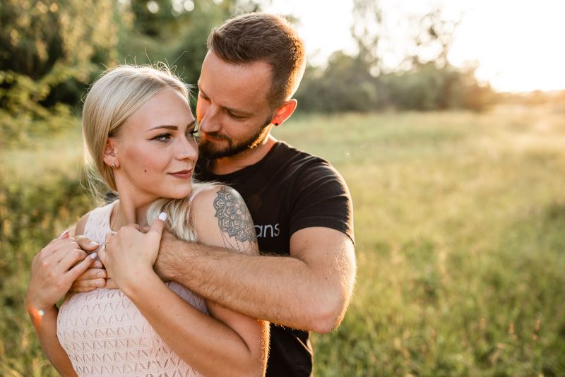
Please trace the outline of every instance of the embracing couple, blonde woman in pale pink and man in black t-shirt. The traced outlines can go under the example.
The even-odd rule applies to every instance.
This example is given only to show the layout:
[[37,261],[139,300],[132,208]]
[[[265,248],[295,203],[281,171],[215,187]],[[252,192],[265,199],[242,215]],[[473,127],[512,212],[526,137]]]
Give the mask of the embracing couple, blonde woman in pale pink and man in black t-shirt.
[[95,81],[85,157],[119,199],[37,253],[26,295],[62,375],[311,375],[356,265],[345,181],[270,135],[304,65],[283,18],[251,13],[210,33],[196,119],[166,68]]

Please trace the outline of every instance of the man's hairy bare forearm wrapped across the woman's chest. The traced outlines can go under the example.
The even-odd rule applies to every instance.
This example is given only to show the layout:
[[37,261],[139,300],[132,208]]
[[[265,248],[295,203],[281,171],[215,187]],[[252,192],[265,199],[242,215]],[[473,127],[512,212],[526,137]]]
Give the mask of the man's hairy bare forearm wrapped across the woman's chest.
[[159,256],[161,275],[234,311],[319,333],[340,323],[335,317],[341,314],[326,308],[343,306],[348,293],[335,277],[321,276],[304,261],[249,256],[179,240],[165,247],[170,250]]

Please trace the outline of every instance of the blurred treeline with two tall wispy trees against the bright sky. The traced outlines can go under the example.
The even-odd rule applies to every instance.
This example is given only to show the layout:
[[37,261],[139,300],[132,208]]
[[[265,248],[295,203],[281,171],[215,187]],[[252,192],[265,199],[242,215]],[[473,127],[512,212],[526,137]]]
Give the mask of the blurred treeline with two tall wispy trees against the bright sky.
[[404,61],[386,67],[379,52],[384,30],[382,11],[375,0],[355,0],[352,36],[356,56],[336,52],[325,69],[308,67],[297,98],[301,108],[319,112],[369,112],[383,109],[482,111],[494,100],[489,85],[475,78],[477,66],[456,68],[447,55],[458,19],[438,9],[411,20]]

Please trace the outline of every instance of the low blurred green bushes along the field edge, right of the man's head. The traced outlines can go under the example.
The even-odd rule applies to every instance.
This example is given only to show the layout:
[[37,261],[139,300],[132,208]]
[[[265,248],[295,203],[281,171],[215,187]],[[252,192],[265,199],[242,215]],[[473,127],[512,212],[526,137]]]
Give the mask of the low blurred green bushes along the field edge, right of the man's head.
[[297,91],[300,109],[314,112],[371,112],[379,109],[482,111],[495,95],[480,85],[475,68],[420,64],[410,71],[371,76],[359,56],[337,52],[325,69],[307,68]]

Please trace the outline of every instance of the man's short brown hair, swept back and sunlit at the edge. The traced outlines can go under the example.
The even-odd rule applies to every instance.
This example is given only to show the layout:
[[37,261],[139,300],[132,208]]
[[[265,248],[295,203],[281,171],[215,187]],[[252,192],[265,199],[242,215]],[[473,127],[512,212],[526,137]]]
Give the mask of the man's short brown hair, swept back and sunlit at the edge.
[[273,14],[248,13],[227,20],[210,32],[208,51],[232,64],[270,64],[267,100],[273,109],[296,92],[304,74],[304,42],[285,18]]

